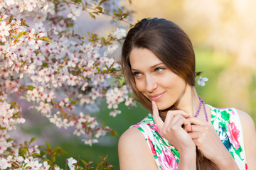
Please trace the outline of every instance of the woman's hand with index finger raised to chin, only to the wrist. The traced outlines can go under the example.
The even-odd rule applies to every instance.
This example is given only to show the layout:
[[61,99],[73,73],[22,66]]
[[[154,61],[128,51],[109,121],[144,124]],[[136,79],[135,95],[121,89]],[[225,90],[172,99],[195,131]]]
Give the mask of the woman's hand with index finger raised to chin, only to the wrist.
[[165,121],[161,120],[156,103],[152,101],[153,119],[161,135],[174,145],[178,152],[196,151],[193,140],[188,135],[191,132],[191,123],[186,119],[188,113],[184,111],[168,111]]

